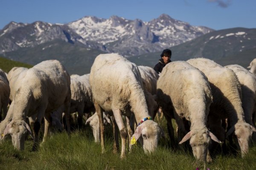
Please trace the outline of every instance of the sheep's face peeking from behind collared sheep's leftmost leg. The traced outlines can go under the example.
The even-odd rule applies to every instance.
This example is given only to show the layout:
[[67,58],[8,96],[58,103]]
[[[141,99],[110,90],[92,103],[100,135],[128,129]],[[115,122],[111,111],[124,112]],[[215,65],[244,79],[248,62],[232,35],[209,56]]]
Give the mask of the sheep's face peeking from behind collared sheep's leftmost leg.
[[[104,125],[112,124],[111,120],[108,118],[108,116],[103,112],[103,121]],[[90,125],[93,130],[93,137],[95,142],[99,142],[99,117],[97,113],[94,113],[92,116],[90,116],[86,122],[85,125]]]

